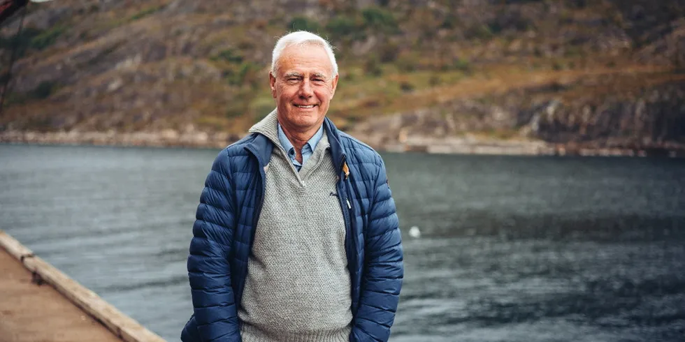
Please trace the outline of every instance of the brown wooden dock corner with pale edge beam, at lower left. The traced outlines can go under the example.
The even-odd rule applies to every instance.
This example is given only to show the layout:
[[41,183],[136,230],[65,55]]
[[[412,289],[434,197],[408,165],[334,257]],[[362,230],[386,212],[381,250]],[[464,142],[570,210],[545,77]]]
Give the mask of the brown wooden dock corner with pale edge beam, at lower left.
[[0,342],[164,342],[0,230]]

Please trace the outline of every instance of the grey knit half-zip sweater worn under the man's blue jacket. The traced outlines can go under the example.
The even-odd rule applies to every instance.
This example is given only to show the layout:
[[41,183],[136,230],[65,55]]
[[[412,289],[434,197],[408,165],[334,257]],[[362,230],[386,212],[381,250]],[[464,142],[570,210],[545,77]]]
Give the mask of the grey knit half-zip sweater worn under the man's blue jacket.
[[345,221],[328,137],[297,172],[280,146],[275,112],[250,131],[275,146],[238,310],[243,341],[348,341]]

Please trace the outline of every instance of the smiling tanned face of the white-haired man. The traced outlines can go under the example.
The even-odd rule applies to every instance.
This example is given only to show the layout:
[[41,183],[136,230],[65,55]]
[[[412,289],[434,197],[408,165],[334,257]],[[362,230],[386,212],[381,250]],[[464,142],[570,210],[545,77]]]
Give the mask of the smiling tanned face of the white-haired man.
[[318,45],[286,47],[269,73],[282,125],[298,130],[318,128],[329,110],[338,75],[326,51]]

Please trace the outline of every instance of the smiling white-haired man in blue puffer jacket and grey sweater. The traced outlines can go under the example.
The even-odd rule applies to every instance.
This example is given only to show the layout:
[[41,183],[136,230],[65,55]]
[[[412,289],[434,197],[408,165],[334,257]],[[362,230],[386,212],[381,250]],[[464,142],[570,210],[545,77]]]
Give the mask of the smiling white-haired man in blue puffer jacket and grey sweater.
[[276,109],[219,153],[190,243],[182,341],[387,341],[403,278],[381,157],[326,112],[331,46],[305,31],[273,50]]

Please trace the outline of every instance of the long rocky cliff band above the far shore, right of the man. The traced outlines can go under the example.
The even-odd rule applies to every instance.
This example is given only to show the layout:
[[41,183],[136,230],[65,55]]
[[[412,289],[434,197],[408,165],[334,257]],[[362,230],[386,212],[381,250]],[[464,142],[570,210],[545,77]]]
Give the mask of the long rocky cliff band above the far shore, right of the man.
[[586,79],[452,101],[370,119],[354,131],[380,144],[402,142],[403,136],[482,133],[590,149],[685,149],[685,80],[627,89],[621,82],[630,79]]

